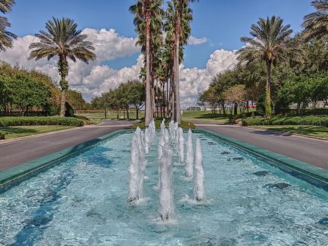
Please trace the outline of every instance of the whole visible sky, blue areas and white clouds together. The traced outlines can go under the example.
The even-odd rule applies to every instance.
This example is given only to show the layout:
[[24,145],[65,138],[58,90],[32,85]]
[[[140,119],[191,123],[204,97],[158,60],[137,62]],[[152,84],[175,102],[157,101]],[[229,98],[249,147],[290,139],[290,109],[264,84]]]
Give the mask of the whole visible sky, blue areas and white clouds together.
[[[10,31],[20,38],[12,50],[0,53],[0,59],[13,65],[37,68],[56,79],[55,61],[27,61],[27,46],[33,35],[44,29],[52,16],[73,18],[78,28],[96,44],[98,59],[85,66],[72,64],[72,88],[90,100],[119,83],[137,76],[142,59],[135,46],[133,15],[128,12],[133,0],[16,0],[7,14]],[[181,66],[182,104],[193,105],[198,92],[206,90],[210,77],[236,64],[233,51],[243,46],[251,24],[259,17],[281,16],[285,24],[301,31],[303,16],[314,9],[311,0],[200,0],[191,3],[194,20],[191,38]],[[115,79],[116,78],[116,79]],[[184,84],[185,83],[185,84]]]

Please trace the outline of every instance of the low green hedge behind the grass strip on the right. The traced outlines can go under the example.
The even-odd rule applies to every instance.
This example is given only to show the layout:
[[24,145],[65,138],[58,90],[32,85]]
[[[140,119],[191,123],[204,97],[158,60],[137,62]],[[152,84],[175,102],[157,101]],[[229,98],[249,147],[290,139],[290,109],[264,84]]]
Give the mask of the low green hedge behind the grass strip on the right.
[[328,126],[328,116],[297,116],[297,117],[274,117],[265,118],[245,118],[244,126],[260,125],[311,125],[311,126]]

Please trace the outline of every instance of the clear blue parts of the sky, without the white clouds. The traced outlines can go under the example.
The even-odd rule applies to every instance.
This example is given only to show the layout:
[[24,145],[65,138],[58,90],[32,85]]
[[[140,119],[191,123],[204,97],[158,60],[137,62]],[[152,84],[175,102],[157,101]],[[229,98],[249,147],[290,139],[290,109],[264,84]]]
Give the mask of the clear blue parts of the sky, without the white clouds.
[[[200,0],[192,3],[194,20],[192,35],[208,38],[205,44],[187,46],[184,65],[204,68],[217,49],[234,50],[241,47],[241,36],[248,36],[252,23],[260,16],[273,14],[284,18],[295,31],[301,30],[302,18],[313,11],[311,0]],[[115,29],[121,36],[135,37],[133,16],[128,7],[133,0],[16,0],[8,18],[11,31],[18,36],[34,34],[44,29],[51,16],[70,17],[80,29]],[[108,61],[118,69],[135,64],[137,54]]]

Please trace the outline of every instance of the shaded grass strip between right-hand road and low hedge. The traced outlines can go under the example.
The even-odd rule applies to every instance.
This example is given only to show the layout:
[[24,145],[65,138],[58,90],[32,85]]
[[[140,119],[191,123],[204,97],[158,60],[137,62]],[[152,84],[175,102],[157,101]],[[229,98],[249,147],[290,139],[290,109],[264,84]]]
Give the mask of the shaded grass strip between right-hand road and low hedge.
[[252,126],[254,128],[269,129],[274,131],[283,131],[287,133],[297,133],[314,137],[328,138],[327,126]]

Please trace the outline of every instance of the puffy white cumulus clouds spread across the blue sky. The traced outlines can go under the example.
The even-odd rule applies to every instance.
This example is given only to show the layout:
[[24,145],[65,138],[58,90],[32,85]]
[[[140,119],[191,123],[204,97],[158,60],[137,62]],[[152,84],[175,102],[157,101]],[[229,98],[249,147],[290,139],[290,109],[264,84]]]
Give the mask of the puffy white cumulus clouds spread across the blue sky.
[[[88,39],[94,43],[97,55],[96,61],[84,64],[81,61],[69,62],[70,72],[68,81],[70,88],[79,90],[85,98],[90,99],[100,96],[111,88],[125,83],[128,79],[139,77],[139,70],[143,66],[143,55],[139,55],[136,64],[121,69],[113,69],[102,65],[103,61],[117,59],[118,57],[131,56],[140,51],[135,46],[135,38],[120,36],[115,29],[83,29]],[[205,42],[203,38],[191,41],[193,44]],[[207,42],[207,39],[204,38]],[[55,81],[59,81],[56,59],[40,59],[39,61],[28,60],[29,44],[38,40],[34,36],[24,36],[14,40],[13,49],[0,53],[0,59],[14,65],[25,68],[36,68],[48,73]],[[180,66],[180,94],[182,108],[195,105],[197,95],[207,89],[211,77],[224,70],[230,70],[236,66],[236,55],[234,51],[223,49],[215,51],[210,55],[206,68],[184,68]]]

